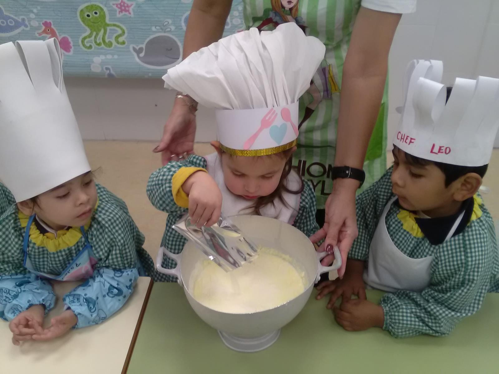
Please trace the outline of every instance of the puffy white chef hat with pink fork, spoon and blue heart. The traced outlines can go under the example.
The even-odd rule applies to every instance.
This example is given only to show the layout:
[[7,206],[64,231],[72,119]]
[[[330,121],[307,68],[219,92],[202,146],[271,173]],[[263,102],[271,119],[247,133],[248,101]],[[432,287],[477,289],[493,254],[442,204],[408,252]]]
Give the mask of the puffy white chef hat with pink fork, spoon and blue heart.
[[295,23],[230,35],[189,55],[163,77],[165,87],[216,108],[218,140],[233,155],[285,151],[298,137],[298,99],[325,47]]

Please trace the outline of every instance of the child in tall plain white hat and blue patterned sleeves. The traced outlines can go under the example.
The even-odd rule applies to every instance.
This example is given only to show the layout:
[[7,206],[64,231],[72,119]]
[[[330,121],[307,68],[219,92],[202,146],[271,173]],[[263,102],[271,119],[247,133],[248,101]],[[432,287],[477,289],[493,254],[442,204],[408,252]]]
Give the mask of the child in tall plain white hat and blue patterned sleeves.
[[[56,39],[0,45],[0,180],[0,318],[14,344],[101,323],[141,263],[154,271],[125,203],[93,181]],[[86,282],[43,329],[50,279]]]

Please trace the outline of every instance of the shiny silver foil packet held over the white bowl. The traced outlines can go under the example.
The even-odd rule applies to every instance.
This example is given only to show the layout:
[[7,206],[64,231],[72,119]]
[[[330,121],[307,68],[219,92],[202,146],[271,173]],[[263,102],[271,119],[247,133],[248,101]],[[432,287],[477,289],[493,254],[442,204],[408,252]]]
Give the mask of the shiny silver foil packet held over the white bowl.
[[231,271],[251,261],[257,251],[257,246],[245,238],[242,231],[228,218],[220,216],[218,223],[212,227],[198,228],[186,214],[173,228],[192,240],[225,271]]

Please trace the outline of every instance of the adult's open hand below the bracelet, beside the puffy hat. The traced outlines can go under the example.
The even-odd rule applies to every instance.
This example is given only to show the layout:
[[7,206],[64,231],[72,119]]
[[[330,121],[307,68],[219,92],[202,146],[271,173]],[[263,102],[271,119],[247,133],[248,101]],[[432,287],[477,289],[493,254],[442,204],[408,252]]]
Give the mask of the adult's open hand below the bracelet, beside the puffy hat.
[[195,135],[196,115],[184,99],[175,98],[163,137],[153,152],[161,152],[161,162],[166,165],[171,160],[177,160],[179,155],[193,152]]

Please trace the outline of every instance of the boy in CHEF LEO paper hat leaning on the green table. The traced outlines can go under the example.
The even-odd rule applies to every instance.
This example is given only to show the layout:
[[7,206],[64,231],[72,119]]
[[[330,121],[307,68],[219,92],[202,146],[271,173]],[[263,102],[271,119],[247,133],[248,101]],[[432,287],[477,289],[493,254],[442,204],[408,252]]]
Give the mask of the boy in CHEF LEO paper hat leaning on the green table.
[[[498,290],[493,219],[477,194],[499,119],[499,79],[457,78],[446,104],[441,61],[414,60],[393,141],[394,166],[357,198],[359,237],[343,280],[322,286],[346,330],[449,334]],[[368,288],[387,291],[379,305]],[[360,299],[350,300],[352,294]]]

